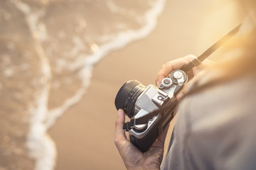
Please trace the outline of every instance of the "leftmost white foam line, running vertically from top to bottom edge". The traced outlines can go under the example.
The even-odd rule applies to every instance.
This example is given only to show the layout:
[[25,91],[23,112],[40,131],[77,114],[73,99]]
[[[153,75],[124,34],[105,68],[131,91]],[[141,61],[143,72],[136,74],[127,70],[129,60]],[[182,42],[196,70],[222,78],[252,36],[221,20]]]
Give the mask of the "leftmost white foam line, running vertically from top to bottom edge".
[[[43,51],[41,42],[39,42],[38,38],[36,38],[36,35],[34,34],[34,31],[41,32],[41,24],[38,23],[38,18],[42,11],[36,11],[36,13],[33,13],[31,8],[22,1],[12,0],[11,2],[25,15],[28,27],[33,36],[33,40],[35,41],[36,52],[38,52],[38,57],[41,61],[41,73],[44,78],[50,80],[51,72],[48,58]],[[43,124],[48,113],[49,91],[50,84],[46,82],[46,84],[43,84],[42,90],[35,95],[35,105],[28,108],[31,119],[26,147],[28,148],[29,156],[36,160],[36,170],[50,170],[55,166],[55,143],[48,136],[46,126]]]

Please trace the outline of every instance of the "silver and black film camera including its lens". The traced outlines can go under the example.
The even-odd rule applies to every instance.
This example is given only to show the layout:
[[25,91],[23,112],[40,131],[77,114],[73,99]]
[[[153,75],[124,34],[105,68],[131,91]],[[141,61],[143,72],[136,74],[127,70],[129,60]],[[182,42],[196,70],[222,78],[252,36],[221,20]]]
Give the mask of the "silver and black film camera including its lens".
[[144,86],[139,81],[127,81],[115,98],[117,110],[122,108],[131,121],[124,124],[129,137],[142,152],[146,152],[174,118],[175,95],[186,84],[188,77],[176,69],[161,81],[159,87]]

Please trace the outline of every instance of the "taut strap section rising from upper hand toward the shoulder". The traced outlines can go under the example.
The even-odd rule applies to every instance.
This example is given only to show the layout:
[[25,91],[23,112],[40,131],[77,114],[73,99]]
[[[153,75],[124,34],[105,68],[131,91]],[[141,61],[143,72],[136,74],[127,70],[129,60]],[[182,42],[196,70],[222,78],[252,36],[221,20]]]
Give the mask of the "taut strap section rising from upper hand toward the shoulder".
[[200,65],[201,62],[203,62],[203,60],[206,60],[206,58],[209,57],[211,54],[213,54],[213,52],[215,52],[215,50],[217,50],[221,45],[223,45],[225,42],[230,40],[230,38],[232,38],[233,35],[238,33],[238,30],[240,29],[241,25],[242,24],[235,27],[227,35],[225,35],[223,38],[221,38],[220,40],[215,42],[215,44],[210,46],[205,52],[203,52],[202,55],[200,55],[199,57],[196,57],[196,59],[192,60],[188,64],[183,65],[183,67],[181,67],[181,70],[183,70],[184,72],[187,72],[189,69],[192,69],[193,67],[196,67],[196,66]]

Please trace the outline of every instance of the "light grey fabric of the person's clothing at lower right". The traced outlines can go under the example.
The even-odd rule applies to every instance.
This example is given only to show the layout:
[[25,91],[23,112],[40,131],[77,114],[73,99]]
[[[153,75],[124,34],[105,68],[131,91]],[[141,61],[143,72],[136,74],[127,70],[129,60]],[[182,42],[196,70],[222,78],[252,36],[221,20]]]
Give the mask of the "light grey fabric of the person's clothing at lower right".
[[256,78],[187,96],[161,169],[256,169]]

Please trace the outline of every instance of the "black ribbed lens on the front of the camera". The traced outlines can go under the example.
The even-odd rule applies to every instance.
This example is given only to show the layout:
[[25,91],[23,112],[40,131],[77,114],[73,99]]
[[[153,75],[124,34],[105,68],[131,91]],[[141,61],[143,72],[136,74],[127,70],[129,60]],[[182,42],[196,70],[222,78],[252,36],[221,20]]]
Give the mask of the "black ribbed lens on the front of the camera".
[[134,116],[135,102],[140,94],[146,89],[137,80],[127,81],[121,89],[119,89],[114,104],[117,108],[122,108],[129,118]]

